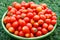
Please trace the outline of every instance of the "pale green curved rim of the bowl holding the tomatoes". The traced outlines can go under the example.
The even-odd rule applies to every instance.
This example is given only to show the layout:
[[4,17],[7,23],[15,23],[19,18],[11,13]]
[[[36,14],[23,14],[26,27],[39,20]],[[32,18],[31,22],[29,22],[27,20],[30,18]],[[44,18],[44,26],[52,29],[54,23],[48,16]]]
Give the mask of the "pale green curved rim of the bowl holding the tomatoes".
[[10,33],[6,28],[5,28],[5,25],[4,25],[4,22],[3,22],[3,19],[6,15],[7,11],[4,13],[3,17],[2,17],[2,26],[3,26],[3,29],[6,31],[7,34],[9,34],[10,36],[16,38],[16,39],[22,39],[22,40],[36,40],[36,39],[42,39],[48,35],[50,35],[51,33],[53,33],[53,31],[55,30],[56,26],[57,26],[57,23],[55,24],[54,28],[52,31],[48,32],[47,34],[45,35],[42,35],[42,36],[39,36],[39,37],[33,37],[33,38],[24,38],[24,37],[20,37],[20,36],[16,36],[12,33]]

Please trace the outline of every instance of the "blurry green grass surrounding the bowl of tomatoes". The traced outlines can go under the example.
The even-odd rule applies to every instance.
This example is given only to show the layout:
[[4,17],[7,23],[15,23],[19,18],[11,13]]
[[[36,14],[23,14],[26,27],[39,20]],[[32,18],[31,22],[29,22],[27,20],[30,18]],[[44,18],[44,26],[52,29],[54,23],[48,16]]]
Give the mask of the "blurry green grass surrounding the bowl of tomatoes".
[[[22,0],[0,0],[0,40],[14,40],[4,32],[1,25],[2,15],[7,10],[7,6],[11,5],[11,3],[14,1],[21,2]],[[50,35],[49,37],[46,37],[42,40],[60,40],[60,0],[26,0],[26,2],[28,1],[34,1],[37,4],[46,3],[50,9],[56,12],[58,15],[57,28],[54,31],[53,35]]]

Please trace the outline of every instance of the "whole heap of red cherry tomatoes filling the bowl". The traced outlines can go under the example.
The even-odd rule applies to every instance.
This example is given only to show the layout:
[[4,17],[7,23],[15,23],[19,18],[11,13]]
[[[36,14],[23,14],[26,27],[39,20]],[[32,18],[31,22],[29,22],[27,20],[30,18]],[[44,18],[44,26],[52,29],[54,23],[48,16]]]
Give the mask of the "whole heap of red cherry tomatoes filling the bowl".
[[37,37],[50,32],[56,24],[57,16],[46,4],[34,2],[13,2],[4,17],[7,30],[17,36]]

